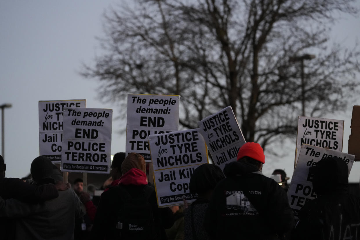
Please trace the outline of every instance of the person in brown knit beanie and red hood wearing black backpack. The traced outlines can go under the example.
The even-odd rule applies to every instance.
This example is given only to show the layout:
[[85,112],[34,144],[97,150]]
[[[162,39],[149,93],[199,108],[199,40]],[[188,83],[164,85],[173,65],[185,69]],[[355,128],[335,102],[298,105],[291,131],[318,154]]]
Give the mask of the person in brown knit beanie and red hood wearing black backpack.
[[121,165],[123,176],[105,191],[94,221],[92,239],[166,239],[174,224],[168,208],[158,208],[155,189],[147,185],[145,160],[130,153]]

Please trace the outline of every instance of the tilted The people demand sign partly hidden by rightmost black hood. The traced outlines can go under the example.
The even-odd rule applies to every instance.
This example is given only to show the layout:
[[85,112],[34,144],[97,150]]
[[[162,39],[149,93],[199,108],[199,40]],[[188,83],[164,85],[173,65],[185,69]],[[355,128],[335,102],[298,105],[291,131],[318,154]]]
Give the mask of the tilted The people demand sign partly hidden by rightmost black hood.
[[343,159],[347,163],[350,174],[352,164],[354,163],[354,155],[308,144],[303,144],[301,146],[299,158],[288,189],[289,205],[296,218],[303,205],[307,201],[316,198],[316,194],[312,188],[312,176],[309,174],[309,168],[311,166],[316,166],[316,163],[320,160],[330,157],[339,157]]

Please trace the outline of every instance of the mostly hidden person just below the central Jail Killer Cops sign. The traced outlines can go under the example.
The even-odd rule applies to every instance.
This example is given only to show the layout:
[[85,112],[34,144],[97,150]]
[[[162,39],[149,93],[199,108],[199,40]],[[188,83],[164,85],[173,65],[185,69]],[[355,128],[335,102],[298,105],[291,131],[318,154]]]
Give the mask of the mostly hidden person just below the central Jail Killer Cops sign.
[[182,206],[172,206],[170,210],[174,214],[174,225],[171,228],[165,229],[168,240],[183,240],[184,239],[184,212]]

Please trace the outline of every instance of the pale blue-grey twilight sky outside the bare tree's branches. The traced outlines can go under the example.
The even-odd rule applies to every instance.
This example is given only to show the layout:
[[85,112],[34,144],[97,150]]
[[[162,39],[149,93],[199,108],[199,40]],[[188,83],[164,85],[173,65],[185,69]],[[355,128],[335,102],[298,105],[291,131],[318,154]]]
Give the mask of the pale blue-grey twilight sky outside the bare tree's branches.
[[[39,100],[86,99],[87,107],[112,108],[113,117],[119,116],[116,104],[98,99],[99,82],[84,79],[78,71],[82,63],[91,64],[101,54],[95,37],[103,36],[104,10],[123,2],[0,1],[0,105],[13,105],[4,114],[7,177],[26,176],[32,160],[39,155]],[[360,8],[359,1],[356,5]],[[359,18],[342,16],[331,37],[351,49],[360,37]],[[322,116],[345,120],[343,152],[346,153],[352,105],[360,105],[360,101],[351,102],[345,113]],[[118,133],[123,124],[125,121],[113,119],[112,154],[125,151],[125,133]],[[275,168],[282,168],[291,177],[295,141],[296,137],[285,144],[283,150],[287,154],[281,158],[266,158],[265,152],[266,176]],[[349,181],[359,182],[359,176],[360,163],[355,162]]]

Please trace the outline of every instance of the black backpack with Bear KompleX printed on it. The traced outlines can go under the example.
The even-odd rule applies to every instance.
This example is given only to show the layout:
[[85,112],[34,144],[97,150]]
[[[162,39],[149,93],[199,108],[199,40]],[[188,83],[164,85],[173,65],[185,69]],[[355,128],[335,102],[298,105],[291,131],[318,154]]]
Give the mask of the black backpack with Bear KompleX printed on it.
[[145,185],[140,193],[131,196],[125,187],[118,186],[122,202],[116,224],[118,239],[157,239],[153,209],[149,203],[153,191],[153,187]]

